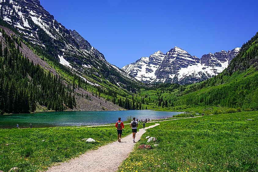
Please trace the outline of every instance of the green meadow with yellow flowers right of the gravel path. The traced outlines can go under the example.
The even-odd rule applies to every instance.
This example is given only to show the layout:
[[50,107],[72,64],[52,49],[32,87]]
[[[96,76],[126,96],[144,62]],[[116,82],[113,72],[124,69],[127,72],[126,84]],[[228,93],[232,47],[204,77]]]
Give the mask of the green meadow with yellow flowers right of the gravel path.
[[161,122],[136,144],[156,137],[152,149],[136,147],[119,171],[258,171],[257,131],[257,111]]

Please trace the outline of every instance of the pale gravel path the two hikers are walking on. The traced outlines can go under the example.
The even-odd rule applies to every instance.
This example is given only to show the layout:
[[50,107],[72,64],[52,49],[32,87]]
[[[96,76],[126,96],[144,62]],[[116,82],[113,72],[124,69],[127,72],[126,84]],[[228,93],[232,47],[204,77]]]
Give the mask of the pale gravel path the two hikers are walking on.
[[[146,132],[146,129],[158,125],[158,123],[155,123],[155,125],[146,127],[145,130],[140,129],[139,132],[136,133],[135,141],[140,140],[141,136]],[[133,151],[134,145],[132,134],[129,134],[121,139],[121,143],[115,141],[97,150],[86,152],[78,158],[71,159],[58,166],[50,167],[47,172],[114,172],[118,170],[123,160]]]

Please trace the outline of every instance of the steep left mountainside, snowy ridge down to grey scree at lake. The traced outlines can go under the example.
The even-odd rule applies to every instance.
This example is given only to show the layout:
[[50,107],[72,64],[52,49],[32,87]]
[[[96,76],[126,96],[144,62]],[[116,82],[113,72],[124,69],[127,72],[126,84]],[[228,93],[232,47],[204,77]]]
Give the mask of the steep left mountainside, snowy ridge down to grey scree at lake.
[[22,40],[24,56],[61,77],[69,89],[75,85],[74,110],[123,109],[115,105],[117,96],[124,103],[136,91],[136,79],[108,63],[77,31],[58,23],[39,0],[0,0],[0,23],[9,36]]

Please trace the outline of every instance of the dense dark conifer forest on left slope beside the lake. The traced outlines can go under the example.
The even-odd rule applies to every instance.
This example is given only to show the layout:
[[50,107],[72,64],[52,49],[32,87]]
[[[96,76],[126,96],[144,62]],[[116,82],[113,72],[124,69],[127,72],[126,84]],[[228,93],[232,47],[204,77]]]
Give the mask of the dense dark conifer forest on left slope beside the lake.
[[1,32],[5,40],[0,42],[0,111],[29,113],[37,104],[56,111],[75,107],[71,88],[29,61],[15,44],[17,39]]

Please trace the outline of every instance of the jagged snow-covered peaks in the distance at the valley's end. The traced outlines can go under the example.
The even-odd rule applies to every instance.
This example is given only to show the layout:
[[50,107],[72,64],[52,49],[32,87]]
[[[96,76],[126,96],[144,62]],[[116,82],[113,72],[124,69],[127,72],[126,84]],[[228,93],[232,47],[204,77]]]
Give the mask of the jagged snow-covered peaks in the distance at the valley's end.
[[158,51],[122,68],[144,83],[167,82],[190,84],[219,74],[227,68],[240,48],[205,54],[199,59],[184,49],[174,47],[166,54]]

